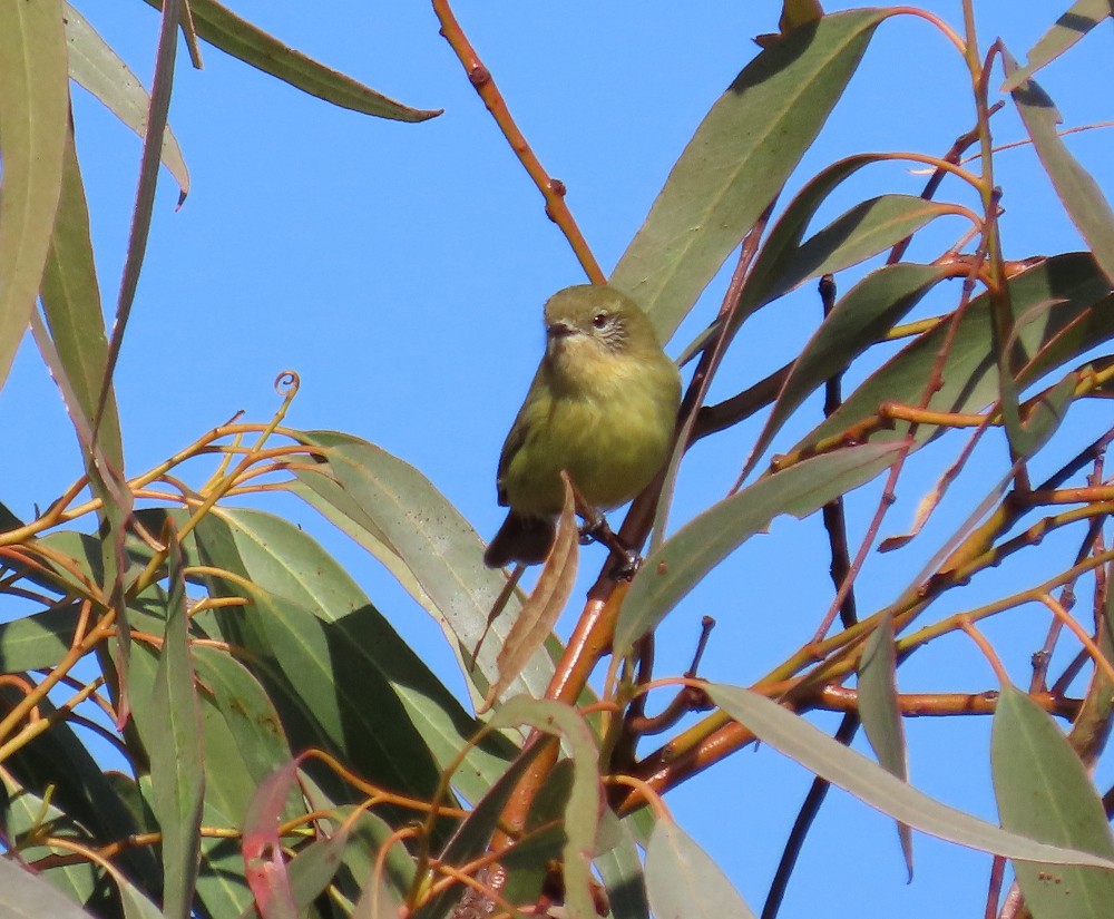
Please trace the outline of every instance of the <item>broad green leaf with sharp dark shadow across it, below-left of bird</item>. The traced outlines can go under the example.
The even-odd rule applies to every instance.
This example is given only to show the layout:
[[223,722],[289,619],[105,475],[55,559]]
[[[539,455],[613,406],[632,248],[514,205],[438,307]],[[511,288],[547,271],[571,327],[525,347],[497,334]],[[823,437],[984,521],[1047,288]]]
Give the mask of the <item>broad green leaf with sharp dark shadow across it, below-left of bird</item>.
[[[348,573],[297,527],[258,511],[215,509],[195,536],[202,564],[234,576],[206,575],[209,592],[250,602],[214,620],[256,656],[294,750],[321,745],[370,781],[432,793],[479,725]],[[506,752],[494,739],[471,751],[456,776],[461,793],[478,799]]]

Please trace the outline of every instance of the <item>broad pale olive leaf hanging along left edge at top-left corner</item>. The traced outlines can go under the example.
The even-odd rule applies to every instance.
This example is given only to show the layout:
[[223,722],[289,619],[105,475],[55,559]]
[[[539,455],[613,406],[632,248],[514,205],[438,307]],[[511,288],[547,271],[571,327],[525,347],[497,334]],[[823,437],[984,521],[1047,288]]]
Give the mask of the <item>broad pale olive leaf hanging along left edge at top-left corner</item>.
[[35,310],[62,186],[69,79],[61,0],[0,3],[0,384]]

